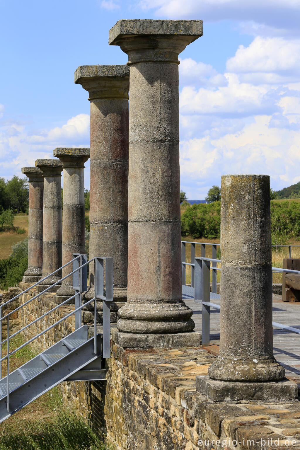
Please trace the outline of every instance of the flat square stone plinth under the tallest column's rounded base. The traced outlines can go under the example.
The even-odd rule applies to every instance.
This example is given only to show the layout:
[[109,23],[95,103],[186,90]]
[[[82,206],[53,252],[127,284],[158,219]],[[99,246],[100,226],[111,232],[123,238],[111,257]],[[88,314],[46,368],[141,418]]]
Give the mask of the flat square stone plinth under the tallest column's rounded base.
[[123,348],[200,347],[201,333],[134,334],[112,329],[112,341]]

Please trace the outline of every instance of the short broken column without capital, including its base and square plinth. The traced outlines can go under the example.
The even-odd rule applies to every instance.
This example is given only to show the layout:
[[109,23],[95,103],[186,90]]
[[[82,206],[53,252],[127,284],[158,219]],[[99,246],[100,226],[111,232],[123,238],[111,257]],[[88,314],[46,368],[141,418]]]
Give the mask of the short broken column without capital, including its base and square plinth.
[[223,175],[220,349],[197,379],[214,400],[294,398],[295,383],[272,383],[285,370],[273,356],[271,262],[269,176]]

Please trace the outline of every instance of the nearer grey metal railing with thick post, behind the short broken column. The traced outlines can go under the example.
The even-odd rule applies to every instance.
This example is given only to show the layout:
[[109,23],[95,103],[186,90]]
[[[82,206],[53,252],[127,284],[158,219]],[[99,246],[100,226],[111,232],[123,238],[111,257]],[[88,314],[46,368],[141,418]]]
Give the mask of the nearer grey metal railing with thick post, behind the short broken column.
[[[201,303],[201,333],[202,333],[202,347],[210,345],[210,308],[220,311],[220,306],[216,303],[210,302],[210,269],[221,270],[218,268],[210,267],[210,262],[220,263],[219,259],[196,257],[195,258],[195,294],[194,300],[197,303]],[[285,272],[300,275],[299,270],[279,269],[278,267],[272,267],[272,272]],[[216,288],[212,289],[213,293],[217,293]],[[279,324],[278,322],[272,322],[273,327],[279,328],[291,333],[300,334],[300,330],[290,327],[288,325]]]

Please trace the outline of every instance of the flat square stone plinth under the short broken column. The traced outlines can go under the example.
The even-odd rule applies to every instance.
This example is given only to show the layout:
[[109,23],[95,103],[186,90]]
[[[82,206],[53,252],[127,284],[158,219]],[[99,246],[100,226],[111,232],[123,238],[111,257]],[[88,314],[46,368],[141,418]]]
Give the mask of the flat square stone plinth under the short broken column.
[[274,400],[284,403],[298,401],[298,386],[287,378],[275,382],[243,383],[212,380],[207,376],[196,377],[196,389],[215,402]]

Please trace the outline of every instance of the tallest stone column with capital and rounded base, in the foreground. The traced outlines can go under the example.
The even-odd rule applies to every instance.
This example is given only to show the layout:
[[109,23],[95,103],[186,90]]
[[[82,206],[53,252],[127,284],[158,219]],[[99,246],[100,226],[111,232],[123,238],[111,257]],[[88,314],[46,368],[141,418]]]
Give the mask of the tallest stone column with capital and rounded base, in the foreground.
[[109,31],[109,44],[120,45],[130,66],[128,301],[118,311],[121,332],[194,328],[181,284],[178,54],[199,36],[199,20],[119,20]]

